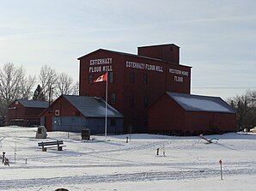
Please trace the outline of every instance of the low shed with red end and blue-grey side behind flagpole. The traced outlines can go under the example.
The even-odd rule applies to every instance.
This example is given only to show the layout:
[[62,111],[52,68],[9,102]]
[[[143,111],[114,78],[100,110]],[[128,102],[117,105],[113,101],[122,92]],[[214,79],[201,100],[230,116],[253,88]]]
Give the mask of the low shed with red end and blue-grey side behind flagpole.
[[[102,98],[76,95],[61,95],[41,113],[41,125],[47,131],[82,132],[88,128],[90,134],[121,134],[124,116]],[[107,129],[106,129],[107,128]]]

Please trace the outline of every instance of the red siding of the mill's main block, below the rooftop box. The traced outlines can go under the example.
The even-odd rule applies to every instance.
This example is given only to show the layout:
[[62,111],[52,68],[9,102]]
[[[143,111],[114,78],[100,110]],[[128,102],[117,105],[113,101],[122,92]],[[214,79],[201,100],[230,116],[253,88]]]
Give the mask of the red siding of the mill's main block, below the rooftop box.
[[[177,51],[179,48],[175,50]],[[179,51],[174,53],[176,54],[175,57],[179,57],[178,53]],[[141,54],[143,55],[143,53]],[[112,63],[97,66],[90,65],[91,60],[101,58],[112,58]],[[179,62],[179,59],[175,59],[175,62]],[[131,127],[134,133],[147,131],[149,105],[153,104],[162,93],[168,91],[174,93],[190,93],[191,67],[179,65],[178,63],[168,63],[159,59],[106,50],[94,51],[79,58],[79,60],[79,94],[81,96],[100,96],[101,98],[105,98],[106,82],[90,84],[88,82],[88,76],[93,74],[95,79],[105,73],[105,71],[102,71],[103,66],[112,67],[114,82],[108,83],[108,103],[110,103],[111,94],[116,93],[116,103],[112,104],[112,106],[124,115],[126,133],[130,131]],[[152,68],[138,69],[137,67],[132,67],[132,63],[143,63],[148,67],[150,65]],[[92,67],[100,67],[101,72],[92,72]],[[131,83],[131,74],[134,74],[134,83]],[[144,83],[144,75],[148,77],[147,84]],[[177,78],[182,81],[177,81]],[[131,97],[134,98],[133,106],[131,106]],[[147,98],[149,104],[148,106],[144,106]]]

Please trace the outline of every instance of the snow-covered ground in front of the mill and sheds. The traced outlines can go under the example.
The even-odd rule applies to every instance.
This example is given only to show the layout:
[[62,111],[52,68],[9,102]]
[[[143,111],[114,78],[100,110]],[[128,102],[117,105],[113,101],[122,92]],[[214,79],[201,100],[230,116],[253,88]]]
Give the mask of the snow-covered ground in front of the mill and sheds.
[[[0,190],[256,190],[256,134],[205,136],[219,139],[211,144],[198,137],[131,134],[126,143],[129,134],[81,140],[81,134],[48,132],[37,140],[36,131],[0,128],[0,153],[9,158],[9,166],[0,164]],[[64,140],[64,151],[42,152],[38,142],[52,140]]]

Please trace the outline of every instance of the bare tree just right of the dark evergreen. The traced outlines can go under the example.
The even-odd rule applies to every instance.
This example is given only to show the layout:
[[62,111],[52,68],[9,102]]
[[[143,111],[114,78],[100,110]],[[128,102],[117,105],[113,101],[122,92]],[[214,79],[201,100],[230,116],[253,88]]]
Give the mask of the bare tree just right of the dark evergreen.
[[39,79],[40,79],[41,87],[43,92],[46,95],[46,99],[48,100],[52,98],[51,92],[52,92],[52,88],[54,88],[56,85],[57,78],[58,77],[55,69],[52,69],[51,67],[48,67],[46,65],[44,65],[40,69]]

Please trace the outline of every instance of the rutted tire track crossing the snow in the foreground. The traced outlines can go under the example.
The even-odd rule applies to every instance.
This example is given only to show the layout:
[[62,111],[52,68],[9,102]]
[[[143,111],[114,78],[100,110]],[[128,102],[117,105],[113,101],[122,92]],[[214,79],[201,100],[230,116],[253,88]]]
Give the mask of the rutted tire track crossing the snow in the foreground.
[[[256,169],[225,170],[224,176],[256,175]],[[106,182],[151,182],[162,180],[198,179],[219,176],[219,170],[150,171],[138,173],[117,173],[96,176],[65,176],[54,178],[20,179],[0,181],[0,190],[14,188],[35,188]]]

